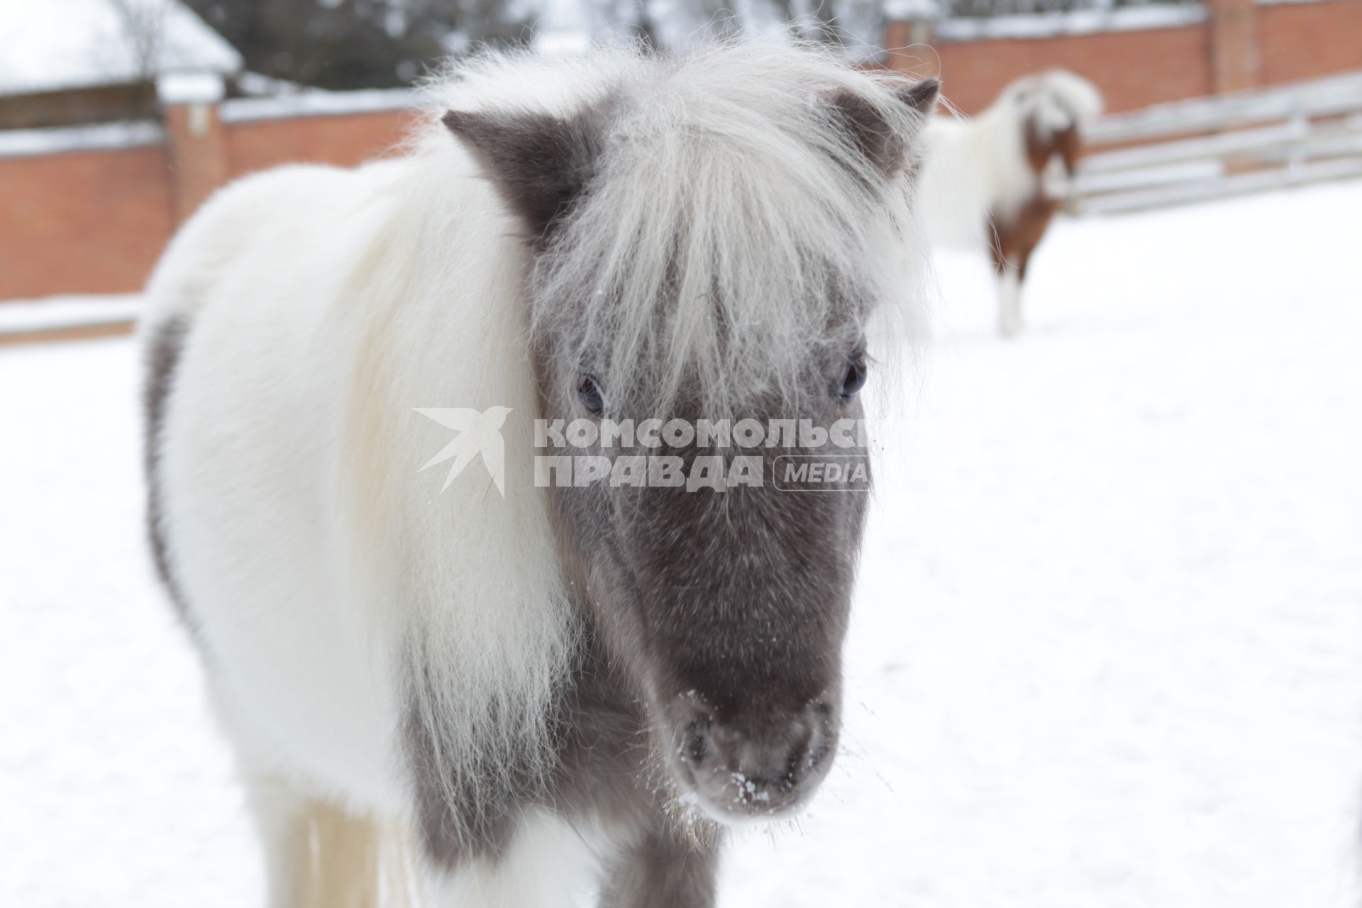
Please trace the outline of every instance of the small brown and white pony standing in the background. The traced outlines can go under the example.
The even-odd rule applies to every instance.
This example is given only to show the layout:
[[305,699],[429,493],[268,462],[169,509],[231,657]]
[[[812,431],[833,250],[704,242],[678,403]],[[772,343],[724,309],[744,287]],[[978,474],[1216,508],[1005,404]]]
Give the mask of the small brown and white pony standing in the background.
[[1051,69],[1011,83],[972,120],[928,128],[921,210],[933,244],[987,245],[998,274],[998,331],[1022,331],[1022,283],[1072,178],[1083,131],[1102,113],[1086,79]]

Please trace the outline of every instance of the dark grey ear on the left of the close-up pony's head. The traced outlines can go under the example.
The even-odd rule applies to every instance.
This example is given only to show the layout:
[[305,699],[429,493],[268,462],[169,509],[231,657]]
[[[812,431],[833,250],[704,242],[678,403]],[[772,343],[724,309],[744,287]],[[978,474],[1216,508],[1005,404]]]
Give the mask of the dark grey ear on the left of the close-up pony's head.
[[586,189],[599,155],[601,129],[590,114],[449,110],[441,123],[539,246]]

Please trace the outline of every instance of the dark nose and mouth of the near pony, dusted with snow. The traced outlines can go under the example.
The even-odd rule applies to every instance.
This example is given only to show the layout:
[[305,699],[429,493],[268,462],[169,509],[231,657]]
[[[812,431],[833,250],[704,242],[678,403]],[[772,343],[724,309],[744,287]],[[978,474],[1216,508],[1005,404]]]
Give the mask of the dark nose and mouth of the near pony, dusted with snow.
[[691,800],[722,822],[793,811],[832,764],[836,723],[827,701],[761,721],[720,721],[699,704],[684,712],[673,735],[673,769]]

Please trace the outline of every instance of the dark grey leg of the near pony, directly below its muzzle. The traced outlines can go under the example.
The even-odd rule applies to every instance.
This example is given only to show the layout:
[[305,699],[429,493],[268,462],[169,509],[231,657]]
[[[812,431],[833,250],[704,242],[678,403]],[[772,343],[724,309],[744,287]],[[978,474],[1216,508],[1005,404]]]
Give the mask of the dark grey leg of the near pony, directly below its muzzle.
[[711,908],[718,847],[650,830],[610,867],[601,908]]

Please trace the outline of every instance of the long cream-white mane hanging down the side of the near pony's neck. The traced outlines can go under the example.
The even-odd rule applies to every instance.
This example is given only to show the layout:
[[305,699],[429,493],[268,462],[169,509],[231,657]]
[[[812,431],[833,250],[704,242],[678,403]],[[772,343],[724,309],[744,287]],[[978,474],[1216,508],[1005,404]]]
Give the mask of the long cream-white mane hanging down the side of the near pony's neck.
[[[571,672],[577,622],[534,483],[537,391],[526,351],[530,255],[447,136],[373,184],[387,206],[350,299],[360,313],[346,485],[355,592],[402,641],[407,731],[436,798],[494,799],[489,766],[534,776]],[[458,434],[417,411],[508,407],[504,494],[481,457],[424,470]],[[484,790],[489,790],[484,792]]]

